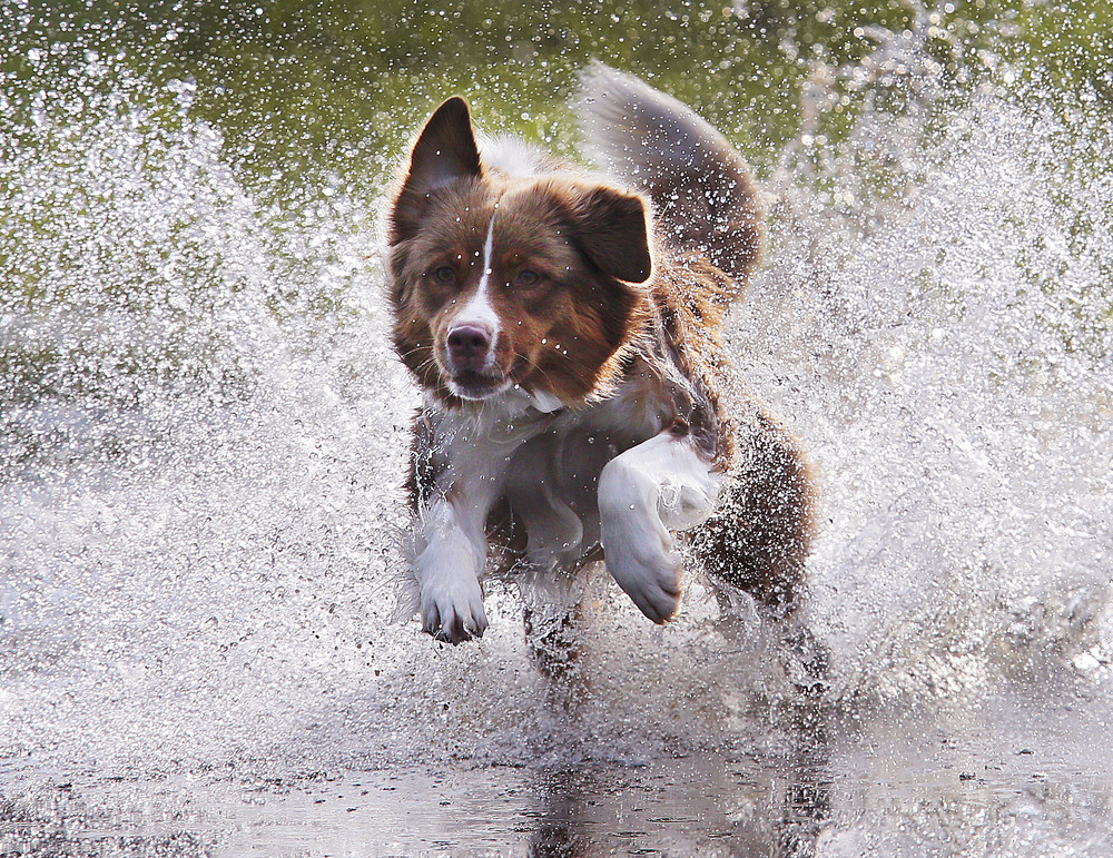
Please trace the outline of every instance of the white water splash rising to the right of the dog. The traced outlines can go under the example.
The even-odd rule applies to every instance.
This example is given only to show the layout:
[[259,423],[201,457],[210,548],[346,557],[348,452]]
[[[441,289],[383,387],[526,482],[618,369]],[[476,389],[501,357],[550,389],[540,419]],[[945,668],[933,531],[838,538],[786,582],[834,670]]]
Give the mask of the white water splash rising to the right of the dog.
[[[867,115],[848,146],[902,139],[907,117]],[[1093,165],[1113,138],[1045,99],[984,97],[936,126],[889,199],[836,214],[781,178],[791,228],[735,332],[754,384],[819,443],[818,594],[854,694],[1109,662],[1111,211]],[[864,175],[829,177],[828,199],[863,199]]]

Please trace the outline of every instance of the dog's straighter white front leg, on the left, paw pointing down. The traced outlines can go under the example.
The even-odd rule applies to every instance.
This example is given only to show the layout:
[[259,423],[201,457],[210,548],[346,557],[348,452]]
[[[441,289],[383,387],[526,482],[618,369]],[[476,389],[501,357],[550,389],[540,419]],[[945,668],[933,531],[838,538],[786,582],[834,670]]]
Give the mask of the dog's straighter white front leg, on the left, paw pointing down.
[[436,480],[418,516],[414,573],[422,627],[460,643],[486,630],[480,575],[486,565],[486,517],[505,469],[503,455],[453,462]]

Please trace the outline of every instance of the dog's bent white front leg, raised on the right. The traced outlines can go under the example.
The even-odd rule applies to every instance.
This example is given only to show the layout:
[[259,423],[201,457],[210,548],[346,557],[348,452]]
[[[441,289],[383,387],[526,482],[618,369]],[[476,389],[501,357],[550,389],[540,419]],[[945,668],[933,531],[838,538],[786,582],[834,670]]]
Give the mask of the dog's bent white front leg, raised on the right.
[[680,558],[670,531],[705,521],[720,484],[691,437],[671,431],[614,457],[599,476],[607,569],[653,622],[670,620],[680,603]]

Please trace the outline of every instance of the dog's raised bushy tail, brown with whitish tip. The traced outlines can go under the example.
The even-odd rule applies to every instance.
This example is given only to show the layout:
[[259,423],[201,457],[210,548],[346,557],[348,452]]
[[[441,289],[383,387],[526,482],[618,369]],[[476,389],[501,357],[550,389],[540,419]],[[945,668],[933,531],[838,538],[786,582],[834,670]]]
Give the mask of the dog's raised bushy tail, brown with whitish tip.
[[589,154],[649,194],[662,237],[745,285],[765,239],[750,170],[691,109],[638,78],[593,62],[580,73]]

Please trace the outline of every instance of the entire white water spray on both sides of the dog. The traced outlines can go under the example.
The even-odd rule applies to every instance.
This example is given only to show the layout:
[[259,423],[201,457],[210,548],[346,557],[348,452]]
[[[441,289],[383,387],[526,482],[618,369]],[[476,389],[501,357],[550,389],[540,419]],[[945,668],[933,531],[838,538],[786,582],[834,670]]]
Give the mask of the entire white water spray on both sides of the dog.
[[[540,702],[513,590],[476,645],[392,622],[417,394],[374,211],[327,185],[264,203],[188,81],[98,57],[71,77],[20,106],[0,167],[7,778],[760,744],[777,633],[721,633],[698,580],[667,629],[589,581],[575,724]],[[729,331],[821,475],[828,699],[1104,688],[1113,140],[1046,102],[913,96],[867,109],[843,158],[807,129],[789,149]]]

